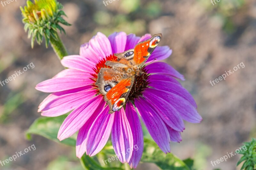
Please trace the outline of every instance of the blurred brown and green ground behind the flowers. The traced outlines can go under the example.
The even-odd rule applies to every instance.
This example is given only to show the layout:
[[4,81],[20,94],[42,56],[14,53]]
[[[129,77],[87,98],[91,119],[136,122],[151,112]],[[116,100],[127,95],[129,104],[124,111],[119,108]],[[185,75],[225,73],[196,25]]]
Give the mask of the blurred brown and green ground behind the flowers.
[[[213,5],[210,0],[116,0],[106,6],[102,0],[59,2],[72,24],[64,26],[66,35],[61,35],[69,54],[78,54],[80,45],[99,31],[107,36],[115,31],[138,36],[162,33],[161,45],[173,50],[164,62],[185,76],[181,83],[203,117],[200,124],[185,122],[183,140],[171,143],[171,152],[180,159],[194,159],[198,170],[238,169],[240,155],[214,167],[210,162],[256,137],[256,1],[220,0]],[[48,95],[36,91],[36,84],[64,69],[51,47],[35,43],[31,49],[19,9],[25,3],[0,5],[0,81],[31,62],[35,65],[0,85],[0,160],[32,144],[36,150],[0,169],[80,170],[74,148],[36,135],[30,141],[25,137]],[[226,80],[209,83],[241,62],[245,67]],[[140,164],[137,169],[157,167]]]

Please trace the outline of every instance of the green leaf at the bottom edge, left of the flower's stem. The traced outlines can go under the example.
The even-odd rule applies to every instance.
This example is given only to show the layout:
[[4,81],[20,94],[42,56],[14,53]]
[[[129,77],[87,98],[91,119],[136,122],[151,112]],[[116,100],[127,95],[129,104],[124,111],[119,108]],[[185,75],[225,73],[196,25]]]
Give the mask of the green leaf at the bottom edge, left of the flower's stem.
[[80,162],[84,167],[84,169],[88,169],[88,170],[112,170],[112,169],[123,170],[122,168],[119,168],[119,167],[102,167],[96,160],[94,160],[92,157],[89,157],[85,154],[81,158]]

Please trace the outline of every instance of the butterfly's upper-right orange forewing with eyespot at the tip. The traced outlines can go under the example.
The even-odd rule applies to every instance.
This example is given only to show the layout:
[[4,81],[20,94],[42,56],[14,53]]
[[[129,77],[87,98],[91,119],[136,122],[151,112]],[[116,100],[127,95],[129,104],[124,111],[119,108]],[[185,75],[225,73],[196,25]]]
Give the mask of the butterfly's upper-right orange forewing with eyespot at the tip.
[[134,48],[133,61],[141,67],[154,51],[158,43],[162,39],[162,34],[155,34],[150,39],[138,43]]

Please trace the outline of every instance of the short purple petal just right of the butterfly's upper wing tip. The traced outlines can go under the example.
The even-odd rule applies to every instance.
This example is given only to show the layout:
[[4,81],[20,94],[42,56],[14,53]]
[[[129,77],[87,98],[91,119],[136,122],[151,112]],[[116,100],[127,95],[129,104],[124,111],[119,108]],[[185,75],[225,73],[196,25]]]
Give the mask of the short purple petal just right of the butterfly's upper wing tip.
[[147,63],[153,61],[156,58],[158,60],[164,60],[172,54],[172,50],[168,46],[157,46],[147,60]]

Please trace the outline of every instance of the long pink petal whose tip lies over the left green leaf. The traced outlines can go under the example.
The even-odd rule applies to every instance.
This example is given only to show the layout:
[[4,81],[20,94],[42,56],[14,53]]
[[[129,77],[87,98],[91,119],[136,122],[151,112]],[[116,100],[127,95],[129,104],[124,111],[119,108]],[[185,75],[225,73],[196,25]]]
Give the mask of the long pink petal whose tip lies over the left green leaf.
[[92,116],[94,111],[101,112],[105,103],[102,97],[98,95],[73,110],[62,123],[58,139],[62,141],[76,133]]

